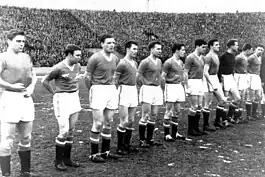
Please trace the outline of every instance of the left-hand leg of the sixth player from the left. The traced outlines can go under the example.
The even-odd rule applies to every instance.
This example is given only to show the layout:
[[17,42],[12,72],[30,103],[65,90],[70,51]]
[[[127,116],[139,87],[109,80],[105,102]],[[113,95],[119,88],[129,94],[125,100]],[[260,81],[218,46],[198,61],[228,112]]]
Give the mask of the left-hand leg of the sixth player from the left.
[[[173,134],[170,134],[170,122],[172,120],[173,111],[174,111],[174,103],[166,102],[166,111],[164,115],[163,127],[164,127],[164,140],[168,142],[174,141],[174,138],[172,137]],[[172,124],[174,123],[175,122],[172,122]],[[174,137],[175,136],[176,136],[176,133],[174,134]]]

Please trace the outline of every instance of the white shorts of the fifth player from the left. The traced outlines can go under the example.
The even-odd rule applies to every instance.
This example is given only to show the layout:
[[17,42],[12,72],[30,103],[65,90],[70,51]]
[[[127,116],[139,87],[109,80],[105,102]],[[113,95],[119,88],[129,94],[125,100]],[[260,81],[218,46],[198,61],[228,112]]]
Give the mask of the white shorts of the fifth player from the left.
[[143,85],[140,88],[140,103],[163,105],[163,91],[160,86]]

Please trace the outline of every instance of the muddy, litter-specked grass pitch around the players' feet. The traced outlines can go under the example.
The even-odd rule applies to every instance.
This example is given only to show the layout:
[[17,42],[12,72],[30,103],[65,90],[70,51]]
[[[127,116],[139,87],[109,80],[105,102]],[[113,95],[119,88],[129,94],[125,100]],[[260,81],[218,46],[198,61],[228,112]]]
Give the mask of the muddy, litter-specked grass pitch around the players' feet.
[[[82,107],[88,108],[88,91],[84,82],[80,84]],[[32,134],[32,169],[40,177],[264,177],[265,176],[265,120],[248,124],[238,124],[225,130],[219,130],[207,136],[192,138],[192,141],[164,143],[159,147],[141,150],[137,154],[126,155],[118,161],[107,161],[104,164],[92,163],[89,160],[89,130],[91,112],[80,113],[79,122],[74,133],[73,159],[82,166],[69,168],[67,172],[55,170],[55,137],[58,125],[52,109],[52,95],[38,82],[34,93],[36,118]],[[187,131],[187,111],[184,108],[180,132]],[[14,110],[15,111],[15,110]],[[163,142],[164,108],[158,116],[155,138]],[[214,111],[211,113],[214,117]],[[138,108],[136,121],[140,119]],[[116,126],[118,115],[115,114],[112,132],[112,151],[116,148]],[[133,145],[138,145],[138,127],[134,125]],[[19,172],[19,159],[14,145],[12,156],[13,176]]]

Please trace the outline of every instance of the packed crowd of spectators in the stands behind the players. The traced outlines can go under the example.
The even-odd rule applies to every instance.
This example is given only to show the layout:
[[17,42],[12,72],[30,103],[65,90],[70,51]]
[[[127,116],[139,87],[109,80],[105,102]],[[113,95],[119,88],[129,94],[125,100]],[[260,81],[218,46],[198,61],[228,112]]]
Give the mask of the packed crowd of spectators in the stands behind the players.
[[51,10],[0,6],[0,51],[5,50],[5,32],[11,28],[26,31],[28,52],[35,66],[52,66],[63,59],[62,49],[68,43],[83,49],[81,64],[99,48],[99,36],[112,34],[117,52],[123,54],[124,43],[136,40],[140,44],[137,58],[148,55],[147,44],[160,40],[162,59],[171,55],[174,42],[186,44],[187,53],[194,48],[194,40],[218,38],[222,51],[230,38],[253,45],[265,44],[265,13],[139,13],[90,10]]

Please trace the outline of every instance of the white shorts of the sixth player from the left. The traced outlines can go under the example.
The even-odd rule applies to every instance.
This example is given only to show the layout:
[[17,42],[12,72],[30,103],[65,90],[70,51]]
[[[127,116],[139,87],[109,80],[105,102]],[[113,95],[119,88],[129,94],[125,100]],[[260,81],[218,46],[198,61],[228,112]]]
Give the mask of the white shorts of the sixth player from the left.
[[185,91],[181,84],[165,84],[165,102],[184,102]]

